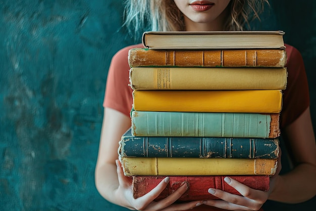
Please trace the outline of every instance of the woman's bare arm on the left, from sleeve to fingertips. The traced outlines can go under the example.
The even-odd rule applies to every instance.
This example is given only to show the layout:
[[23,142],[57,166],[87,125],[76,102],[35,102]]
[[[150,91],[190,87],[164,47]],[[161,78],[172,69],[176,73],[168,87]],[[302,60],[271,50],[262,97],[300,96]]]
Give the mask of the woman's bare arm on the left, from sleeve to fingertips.
[[187,190],[187,184],[167,198],[153,201],[167,186],[166,177],[152,191],[137,199],[133,198],[132,181],[125,177],[118,161],[118,147],[121,136],[131,126],[130,117],[111,108],[104,108],[99,152],[95,168],[95,185],[99,193],[108,201],[137,210],[187,210],[199,206],[202,201],[174,203]]

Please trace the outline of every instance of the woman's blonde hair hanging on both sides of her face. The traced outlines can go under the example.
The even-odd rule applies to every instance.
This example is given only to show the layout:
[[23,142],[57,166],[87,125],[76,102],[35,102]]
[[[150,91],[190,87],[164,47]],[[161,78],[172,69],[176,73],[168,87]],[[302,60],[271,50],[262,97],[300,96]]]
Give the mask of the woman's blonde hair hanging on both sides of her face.
[[[224,30],[242,31],[249,29],[249,23],[259,19],[268,0],[231,0],[228,7],[230,15]],[[125,1],[125,22],[128,30],[134,28],[152,31],[184,31],[183,14],[174,0],[127,0]]]

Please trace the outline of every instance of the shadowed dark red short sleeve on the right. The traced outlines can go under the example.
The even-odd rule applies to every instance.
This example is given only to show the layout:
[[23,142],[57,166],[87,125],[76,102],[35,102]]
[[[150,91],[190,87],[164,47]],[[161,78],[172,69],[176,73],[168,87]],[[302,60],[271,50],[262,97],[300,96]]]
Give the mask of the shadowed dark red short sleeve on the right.
[[281,128],[295,121],[309,106],[308,83],[301,54],[292,46],[286,45],[288,82],[283,92]]

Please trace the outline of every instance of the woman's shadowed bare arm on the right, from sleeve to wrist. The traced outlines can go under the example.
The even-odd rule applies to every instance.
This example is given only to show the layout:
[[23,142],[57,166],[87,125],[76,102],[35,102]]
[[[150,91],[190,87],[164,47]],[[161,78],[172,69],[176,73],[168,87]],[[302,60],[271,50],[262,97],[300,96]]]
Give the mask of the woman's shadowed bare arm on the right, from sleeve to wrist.
[[309,107],[284,130],[293,152],[294,169],[276,178],[269,199],[298,203],[316,194],[316,143]]

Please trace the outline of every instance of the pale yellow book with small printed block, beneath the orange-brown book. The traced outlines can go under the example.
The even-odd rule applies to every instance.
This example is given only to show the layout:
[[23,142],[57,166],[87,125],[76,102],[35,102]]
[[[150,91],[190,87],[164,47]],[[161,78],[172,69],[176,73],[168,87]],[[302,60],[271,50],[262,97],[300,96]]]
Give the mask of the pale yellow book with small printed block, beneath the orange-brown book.
[[285,90],[286,68],[134,67],[133,90]]

